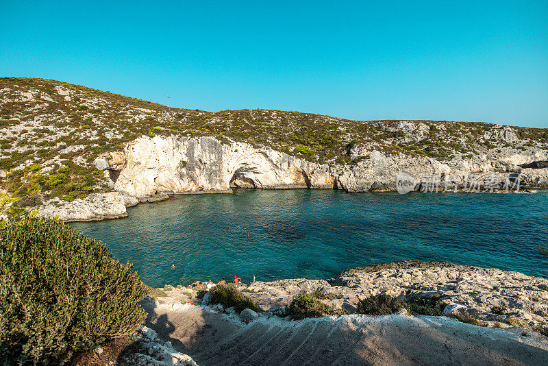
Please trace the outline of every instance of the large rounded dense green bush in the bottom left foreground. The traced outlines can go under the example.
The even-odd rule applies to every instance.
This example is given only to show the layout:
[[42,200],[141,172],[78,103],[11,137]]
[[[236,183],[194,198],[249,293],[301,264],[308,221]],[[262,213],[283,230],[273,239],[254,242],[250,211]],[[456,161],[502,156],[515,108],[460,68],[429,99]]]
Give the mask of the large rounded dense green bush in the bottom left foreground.
[[144,295],[130,265],[68,225],[25,218],[0,228],[1,360],[60,364],[132,334]]

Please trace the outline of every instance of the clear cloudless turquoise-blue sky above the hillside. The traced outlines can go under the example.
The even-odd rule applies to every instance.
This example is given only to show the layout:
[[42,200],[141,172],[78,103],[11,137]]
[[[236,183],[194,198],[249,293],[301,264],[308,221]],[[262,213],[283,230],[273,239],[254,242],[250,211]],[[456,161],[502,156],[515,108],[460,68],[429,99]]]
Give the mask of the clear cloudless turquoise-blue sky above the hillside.
[[0,76],[210,111],[548,127],[548,1],[0,0]]

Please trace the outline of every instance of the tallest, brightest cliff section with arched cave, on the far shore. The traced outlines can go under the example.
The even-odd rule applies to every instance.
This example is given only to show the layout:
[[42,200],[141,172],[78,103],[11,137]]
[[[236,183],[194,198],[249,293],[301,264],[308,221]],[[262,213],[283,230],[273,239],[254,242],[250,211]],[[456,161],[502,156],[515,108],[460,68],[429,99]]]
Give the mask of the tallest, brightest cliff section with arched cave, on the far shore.
[[96,160],[114,190],[143,200],[160,193],[230,192],[231,187],[333,188],[327,165],[215,138],[142,137]]

